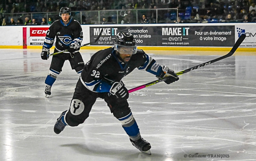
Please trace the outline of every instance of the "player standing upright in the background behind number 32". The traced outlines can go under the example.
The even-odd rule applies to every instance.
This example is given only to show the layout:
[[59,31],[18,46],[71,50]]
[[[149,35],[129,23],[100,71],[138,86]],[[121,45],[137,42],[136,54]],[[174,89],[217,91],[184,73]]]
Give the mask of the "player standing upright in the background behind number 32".
[[52,84],[56,81],[57,76],[62,71],[62,67],[66,60],[70,62],[71,68],[75,69],[79,75],[84,68],[84,61],[79,53],[83,40],[82,27],[78,21],[70,17],[71,12],[68,7],[62,7],[59,15],[61,19],[54,21],[47,31],[41,58],[43,60],[47,60],[49,58],[48,55],[55,37],[56,43],[54,53],[63,50],[68,51],[52,56],[50,71],[45,79],[45,97],[49,97],[49,95],[51,95]]

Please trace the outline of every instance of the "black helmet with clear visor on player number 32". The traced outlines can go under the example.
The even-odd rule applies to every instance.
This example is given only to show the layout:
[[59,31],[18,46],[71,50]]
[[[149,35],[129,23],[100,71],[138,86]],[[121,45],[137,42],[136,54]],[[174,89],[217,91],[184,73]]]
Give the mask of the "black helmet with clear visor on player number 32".
[[115,39],[115,50],[122,54],[135,54],[136,41],[130,32],[119,32]]

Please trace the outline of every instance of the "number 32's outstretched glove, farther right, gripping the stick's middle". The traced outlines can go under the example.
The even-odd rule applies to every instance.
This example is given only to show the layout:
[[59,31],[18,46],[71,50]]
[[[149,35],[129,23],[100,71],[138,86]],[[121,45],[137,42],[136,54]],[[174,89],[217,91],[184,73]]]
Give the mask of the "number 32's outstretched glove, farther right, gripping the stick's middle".
[[164,78],[164,77],[168,77],[166,80],[164,80],[164,82],[166,84],[171,84],[175,81],[178,81],[180,78],[178,77],[177,74],[174,73],[173,70],[169,69],[166,66],[163,66],[163,71],[161,72],[160,76],[157,78]]

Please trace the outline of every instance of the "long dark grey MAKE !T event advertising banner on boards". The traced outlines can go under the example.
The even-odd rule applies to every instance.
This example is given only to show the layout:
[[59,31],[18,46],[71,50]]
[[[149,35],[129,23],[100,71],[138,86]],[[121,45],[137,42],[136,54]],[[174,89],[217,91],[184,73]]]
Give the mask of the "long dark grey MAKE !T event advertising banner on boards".
[[118,32],[133,34],[138,46],[214,46],[231,47],[235,43],[235,26],[116,26],[90,27],[92,45],[113,46]]

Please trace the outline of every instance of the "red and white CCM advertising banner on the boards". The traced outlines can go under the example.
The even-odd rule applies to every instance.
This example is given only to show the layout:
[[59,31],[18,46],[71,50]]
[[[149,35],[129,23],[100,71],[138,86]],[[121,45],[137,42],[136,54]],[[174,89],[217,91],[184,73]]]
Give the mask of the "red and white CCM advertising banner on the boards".
[[43,45],[49,27],[30,27],[27,45]]

